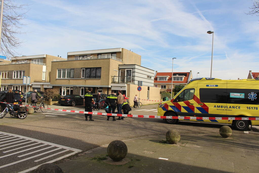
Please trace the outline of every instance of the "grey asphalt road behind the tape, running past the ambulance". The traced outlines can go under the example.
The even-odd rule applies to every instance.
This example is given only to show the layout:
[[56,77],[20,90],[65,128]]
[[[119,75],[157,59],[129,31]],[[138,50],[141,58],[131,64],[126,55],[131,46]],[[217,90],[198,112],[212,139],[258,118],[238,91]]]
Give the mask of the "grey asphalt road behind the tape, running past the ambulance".
[[[157,105],[147,105],[142,106],[141,109],[132,108],[130,113],[139,115],[156,115]],[[76,107],[64,107],[66,109],[82,109],[83,106]],[[104,111],[104,110],[101,110]],[[113,140],[124,140],[129,138],[137,138],[141,136],[150,136],[165,134],[169,129],[175,128],[180,133],[218,133],[219,128],[222,126],[220,124],[203,124],[203,123],[192,123],[192,122],[180,122],[179,124],[167,124],[163,119],[154,118],[125,118],[124,120],[110,121],[106,120],[106,116],[93,115],[94,121],[85,121],[83,114],[78,113],[66,113],[58,111],[48,111],[46,113],[37,112],[34,115],[28,115],[26,119],[20,120],[16,118],[10,118],[8,115],[3,119],[0,119],[0,131],[4,133],[11,133],[16,135],[21,135],[20,137],[15,137],[10,135],[10,137],[4,137],[4,133],[0,132],[0,172],[19,172],[27,170],[31,167],[37,166],[34,160],[39,160],[39,158],[49,156],[44,161],[39,162],[40,164],[45,163],[50,160],[54,160],[58,157],[62,157],[66,154],[72,153],[74,150],[89,150],[104,144],[110,143]],[[233,131],[233,133],[244,133],[241,131]],[[2,136],[1,136],[2,135]],[[12,154],[11,156],[2,156],[8,154],[3,153],[13,148],[2,149],[3,147],[8,147],[10,145],[5,145],[11,143],[18,138],[23,139],[22,136],[26,136],[33,143],[38,144],[31,145],[29,147],[15,149],[10,153],[19,152],[27,148],[33,148],[22,152],[22,154],[27,154],[24,158],[33,157],[37,154],[42,154],[39,157],[33,157],[34,160],[25,160],[24,162],[19,162],[15,164],[15,161],[21,160],[18,156],[21,153]],[[11,139],[7,139],[11,138]],[[3,139],[1,141],[1,139]],[[5,140],[6,139],[6,140]],[[26,139],[26,138],[25,138]],[[20,140],[20,139],[19,139]],[[7,142],[5,142],[7,141]],[[1,143],[3,142],[3,143]],[[4,143],[5,142],[5,143]],[[24,141],[27,142],[27,141]],[[22,142],[18,142],[12,145],[17,145]],[[33,143],[26,143],[17,145],[16,148],[22,146],[27,146]],[[47,143],[47,144],[46,144]],[[46,144],[46,145],[44,145]],[[5,145],[1,147],[1,145]],[[43,145],[43,146],[41,146]],[[39,146],[39,147],[38,147]],[[45,149],[45,148],[47,149]],[[49,148],[48,148],[49,147]],[[63,147],[63,149],[62,149]],[[71,151],[64,151],[66,147],[71,147]],[[61,150],[59,150],[61,148]],[[1,150],[2,149],[2,150]],[[42,149],[42,150],[41,150]],[[56,149],[56,150],[55,150]],[[37,150],[40,150],[39,152]],[[51,151],[55,150],[55,151]],[[35,151],[35,152],[34,152]],[[53,153],[62,152],[63,154],[56,154],[51,156]],[[32,152],[32,153],[31,153]],[[34,153],[33,153],[34,152]],[[49,152],[44,155],[45,152]],[[29,153],[29,154],[28,154]],[[1,167],[7,165],[5,167]]]

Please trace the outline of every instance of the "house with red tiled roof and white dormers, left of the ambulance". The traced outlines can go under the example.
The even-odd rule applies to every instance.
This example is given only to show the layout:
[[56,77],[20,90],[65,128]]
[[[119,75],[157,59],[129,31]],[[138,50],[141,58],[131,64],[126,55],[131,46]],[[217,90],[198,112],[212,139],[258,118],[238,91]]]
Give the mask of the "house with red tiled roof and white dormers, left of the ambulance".
[[[154,77],[154,86],[159,87],[160,91],[171,92],[171,87],[175,85],[186,85],[192,79],[192,71],[190,72],[157,72]],[[172,85],[173,80],[173,85]]]

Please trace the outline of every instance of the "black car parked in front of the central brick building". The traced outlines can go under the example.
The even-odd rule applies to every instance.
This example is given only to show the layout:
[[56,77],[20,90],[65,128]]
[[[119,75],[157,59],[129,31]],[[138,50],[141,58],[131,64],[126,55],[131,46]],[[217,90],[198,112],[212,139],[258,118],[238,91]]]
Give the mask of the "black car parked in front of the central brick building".
[[71,105],[71,106],[75,106],[75,105],[82,105],[84,104],[84,98],[75,95],[75,94],[70,94],[70,95],[66,95],[64,97],[60,97],[59,98],[59,104],[60,105]]

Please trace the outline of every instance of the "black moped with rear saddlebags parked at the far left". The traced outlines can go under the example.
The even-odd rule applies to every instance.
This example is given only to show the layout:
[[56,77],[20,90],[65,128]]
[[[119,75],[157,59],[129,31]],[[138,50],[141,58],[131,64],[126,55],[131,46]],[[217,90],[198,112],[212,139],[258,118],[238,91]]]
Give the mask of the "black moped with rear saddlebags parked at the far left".
[[10,116],[17,117],[19,119],[25,119],[27,117],[27,112],[26,112],[26,107],[25,106],[20,106],[18,111],[14,111],[11,108],[11,104],[5,103],[6,107],[3,110],[3,112],[0,113],[0,118],[4,118],[4,116],[7,114],[8,110],[10,110]]

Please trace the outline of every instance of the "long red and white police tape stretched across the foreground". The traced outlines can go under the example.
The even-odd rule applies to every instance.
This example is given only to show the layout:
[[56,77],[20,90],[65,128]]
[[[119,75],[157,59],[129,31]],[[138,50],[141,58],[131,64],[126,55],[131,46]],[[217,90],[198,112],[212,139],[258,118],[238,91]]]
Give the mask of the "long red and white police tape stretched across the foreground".
[[[0,103],[5,103],[5,102],[0,102]],[[12,103],[5,103],[5,104],[12,104]],[[12,105],[19,105],[19,104],[12,104]],[[20,105],[20,106],[29,106],[29,105]],[[37,107],[37,106],[30,106],[30,107]],[[63,111],[63,112],[104,115],[104,116],[117,116],[117,117],[162,118],[162,119],[184,119],[184,120],[259,120],[259,117],[182,117],[182,116],[172,117],[172,116],[131,115],[131,114],[116,114],[116,113],[102,113],[102,112],[85,112],[85,111],[53,109],[53,108],[45,108],[45,107],[37,107],[37,108],[51,109],[51,110]]]

